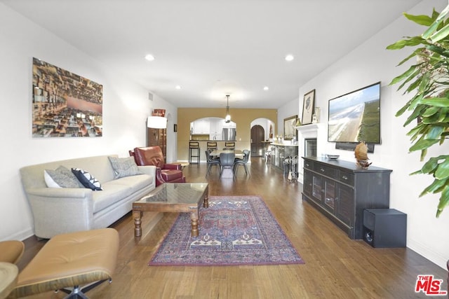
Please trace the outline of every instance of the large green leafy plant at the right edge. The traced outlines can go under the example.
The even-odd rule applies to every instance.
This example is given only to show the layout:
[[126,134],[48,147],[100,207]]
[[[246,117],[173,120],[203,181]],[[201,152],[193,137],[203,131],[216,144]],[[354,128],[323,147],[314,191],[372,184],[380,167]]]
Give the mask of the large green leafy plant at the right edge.
[[[396,116],[410,113],[404,126],[415,123],[407,134],[412,141],[411,151],[421,151],[421,161],[431,146],[443,144],[449,135],[449,6],[441,13],[435,10],[430,16],[409,15],[408,20],[427,27],[420,36],[407,36],[388,46],[389,50],[414,47],[413,52],[399,65],[415,57],[413,65],[390,85],[401,83],[398,90],[413,95]],[[438,155],[424,162],[413,174],[431,174],[433,183],[420,196],[441,193],[436,217],[449,204],[449,155]]]

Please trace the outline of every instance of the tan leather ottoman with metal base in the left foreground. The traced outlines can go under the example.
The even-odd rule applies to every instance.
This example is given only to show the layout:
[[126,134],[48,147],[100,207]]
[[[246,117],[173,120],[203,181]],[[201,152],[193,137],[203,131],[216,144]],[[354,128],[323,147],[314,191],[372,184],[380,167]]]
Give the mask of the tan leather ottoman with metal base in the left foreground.
[[73,295],[85,297],[79,286],[111,281],[118,251],[119,233],[112,228],[56,235],[19,273],[10,298],[55,290],[68,293],[67,287],[74,287]]

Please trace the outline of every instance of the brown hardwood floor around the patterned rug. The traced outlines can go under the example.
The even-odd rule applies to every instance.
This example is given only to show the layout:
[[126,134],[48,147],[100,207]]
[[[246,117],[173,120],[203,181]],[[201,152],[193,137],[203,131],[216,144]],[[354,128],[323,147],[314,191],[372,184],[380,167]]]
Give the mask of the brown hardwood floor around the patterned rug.
[[[219,180],[206,164],[185,167],[188,182],[210,184],[209,195],[260,195],[290,238],[304,265],[222,267],[149,267],[177,214],[142,218],[142,237],[134,237],[131,214],[112,225],[120,234],[120,250],[112,284],[89,291],[90,298],[429,298],[415,293],[418,274],[444,279],[448,272],[410,249],[374,249],[351,240],[307,202],[300,183],[288,183],[282,172],[251,158],[250,176],[240,167],[236,180]],[[150,226],[153,226],[151,229]],[[19,263],[22,269],[43,246],[31,237]],[[29,298],[63,298],[44,293]],[[441,297],[440,297],[441,298]]]

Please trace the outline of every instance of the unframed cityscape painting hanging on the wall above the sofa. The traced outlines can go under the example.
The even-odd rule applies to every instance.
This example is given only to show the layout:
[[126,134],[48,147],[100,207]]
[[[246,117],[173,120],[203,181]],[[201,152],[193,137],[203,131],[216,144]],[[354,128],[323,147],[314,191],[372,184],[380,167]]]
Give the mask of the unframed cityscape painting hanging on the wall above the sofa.
[[101,137],[103,86],[33,57],[33,137]]

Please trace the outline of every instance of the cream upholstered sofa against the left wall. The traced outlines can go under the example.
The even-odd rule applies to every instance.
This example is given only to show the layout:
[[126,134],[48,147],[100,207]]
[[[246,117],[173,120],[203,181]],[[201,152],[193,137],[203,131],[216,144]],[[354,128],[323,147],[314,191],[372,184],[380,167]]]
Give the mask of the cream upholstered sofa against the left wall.
[[[135,200],[156,187],[156,167],[138,166],[138,172],[116,179],[109,157],[101,155],[31,165],[20,169],[22,185],[34,217],[34,234],[48,239],[79,230],[106,228],[132,209]],[[125,159],[125,158],[123,158]],[[49,188],[44,170],[79,168],[95,176],[102,190]],[[137,165],[136,165],[137,166]]]

